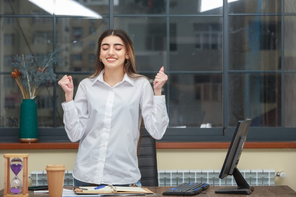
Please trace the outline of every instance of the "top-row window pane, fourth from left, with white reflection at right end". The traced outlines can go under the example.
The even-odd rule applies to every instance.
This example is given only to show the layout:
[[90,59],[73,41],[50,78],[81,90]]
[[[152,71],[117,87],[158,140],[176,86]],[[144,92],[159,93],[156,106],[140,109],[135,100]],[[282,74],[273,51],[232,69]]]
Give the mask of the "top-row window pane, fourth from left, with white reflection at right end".
[[223,0],[170,0],[170,14],[223,14]]

